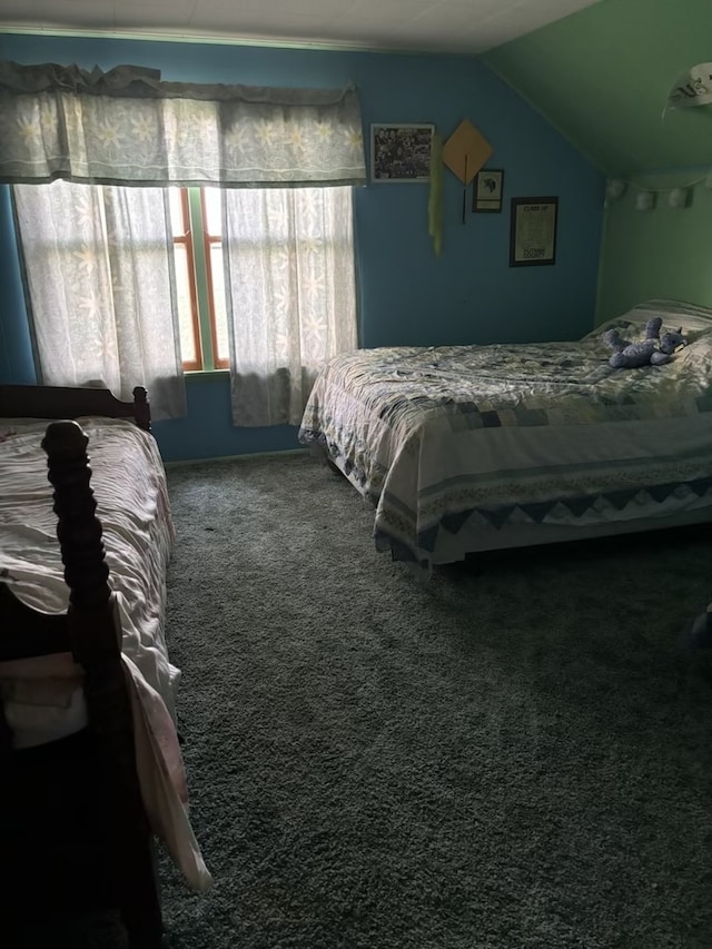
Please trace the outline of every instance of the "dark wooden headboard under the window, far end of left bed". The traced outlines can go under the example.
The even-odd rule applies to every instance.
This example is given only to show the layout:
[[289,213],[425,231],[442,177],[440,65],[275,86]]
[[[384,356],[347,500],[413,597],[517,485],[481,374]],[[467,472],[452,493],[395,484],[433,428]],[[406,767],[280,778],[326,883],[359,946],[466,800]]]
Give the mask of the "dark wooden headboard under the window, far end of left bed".
[[144,386],[134,389],[134,402],[121,402],[107,388],[0,385],[0,418],[79,418],[102,415],[132,418],[151,431],[151,411]]

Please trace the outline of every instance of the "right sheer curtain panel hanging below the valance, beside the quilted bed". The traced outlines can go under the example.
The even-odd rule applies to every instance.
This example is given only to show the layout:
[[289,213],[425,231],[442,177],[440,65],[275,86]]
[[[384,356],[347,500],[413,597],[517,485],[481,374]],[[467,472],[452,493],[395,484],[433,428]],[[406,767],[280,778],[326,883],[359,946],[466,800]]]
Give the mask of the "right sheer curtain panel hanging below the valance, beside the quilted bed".
[[222,197],[233,419],[298,425],[320,366],[357,346],[352,189]]

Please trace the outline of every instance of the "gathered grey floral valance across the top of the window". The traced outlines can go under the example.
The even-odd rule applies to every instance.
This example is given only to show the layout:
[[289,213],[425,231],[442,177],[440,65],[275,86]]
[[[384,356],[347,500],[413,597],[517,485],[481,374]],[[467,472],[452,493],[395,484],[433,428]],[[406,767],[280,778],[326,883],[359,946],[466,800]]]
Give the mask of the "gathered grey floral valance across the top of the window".
[[0,62],[0,181],[298,187],[366,181],[354,86],[164,82]]

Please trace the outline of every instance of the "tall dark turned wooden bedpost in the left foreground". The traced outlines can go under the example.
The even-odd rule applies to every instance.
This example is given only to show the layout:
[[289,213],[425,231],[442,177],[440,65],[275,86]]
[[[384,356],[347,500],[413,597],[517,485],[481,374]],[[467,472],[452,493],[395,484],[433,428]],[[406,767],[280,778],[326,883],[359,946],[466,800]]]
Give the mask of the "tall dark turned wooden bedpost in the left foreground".
[[55,422],[47,428],[42,448],[55,488],[57,536],[70,589],[69,641],[85,672],[89,731],[108,788],[109,861],[117,870],[119,909],[131,949],[149,949],[161,941],[160,903],[136,769],[120,621],[90,485],[88,441],[76,422]]

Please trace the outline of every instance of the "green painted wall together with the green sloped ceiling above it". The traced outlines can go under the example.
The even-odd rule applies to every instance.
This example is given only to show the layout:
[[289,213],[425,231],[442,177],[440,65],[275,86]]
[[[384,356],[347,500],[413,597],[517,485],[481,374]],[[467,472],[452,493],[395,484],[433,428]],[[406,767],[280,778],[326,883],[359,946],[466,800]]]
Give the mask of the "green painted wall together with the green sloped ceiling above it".
[[[679,76],[712,61],[711,0],[601,0],[484,60],[601,170],[629,181],[605,212],[596,323],[651,297],[712,306],[712,106],[665,111]],[[695,179],[691,206],[670,208],[669,190]],[[635,209],[645,187],[661,189],[653,211]]]

